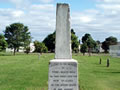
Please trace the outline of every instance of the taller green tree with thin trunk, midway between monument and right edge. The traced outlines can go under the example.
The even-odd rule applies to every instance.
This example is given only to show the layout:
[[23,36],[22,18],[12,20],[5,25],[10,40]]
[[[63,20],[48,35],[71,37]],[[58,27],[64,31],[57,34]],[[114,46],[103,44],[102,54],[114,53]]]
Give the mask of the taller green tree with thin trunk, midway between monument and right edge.
[[83,37],[82,37],[82,43],[86,43],[87,44],[87,48],[88,48],[88,53],[89,53],[89,56],[91,55],[90,53],[92,52],[92,49],[96,48],[97,47],[97,43],[93,40],[93,38],[91,37],[90,34],[85,34]]

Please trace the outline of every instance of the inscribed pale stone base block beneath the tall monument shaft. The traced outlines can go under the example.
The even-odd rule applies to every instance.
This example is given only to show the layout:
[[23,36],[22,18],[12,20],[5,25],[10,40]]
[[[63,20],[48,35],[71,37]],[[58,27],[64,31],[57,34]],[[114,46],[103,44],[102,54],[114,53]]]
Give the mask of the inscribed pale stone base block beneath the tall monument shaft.
[[78,63],[74,59],[54,59],[49,63],[48,90],[78,90]]

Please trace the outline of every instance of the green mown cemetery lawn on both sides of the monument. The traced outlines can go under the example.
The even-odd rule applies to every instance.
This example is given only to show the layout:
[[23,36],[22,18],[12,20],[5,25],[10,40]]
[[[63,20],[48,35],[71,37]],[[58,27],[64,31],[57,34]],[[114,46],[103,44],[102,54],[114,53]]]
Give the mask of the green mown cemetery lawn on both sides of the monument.
[[[0,90],[47,90],[48,65],[54,54],[0,55]],[[80,90],[120,90],[120,58],[108,55],[82,56],[78,61]],[[99,58],[102,64],[99,64]],[[106,60],[110,59],[110,67]]]

